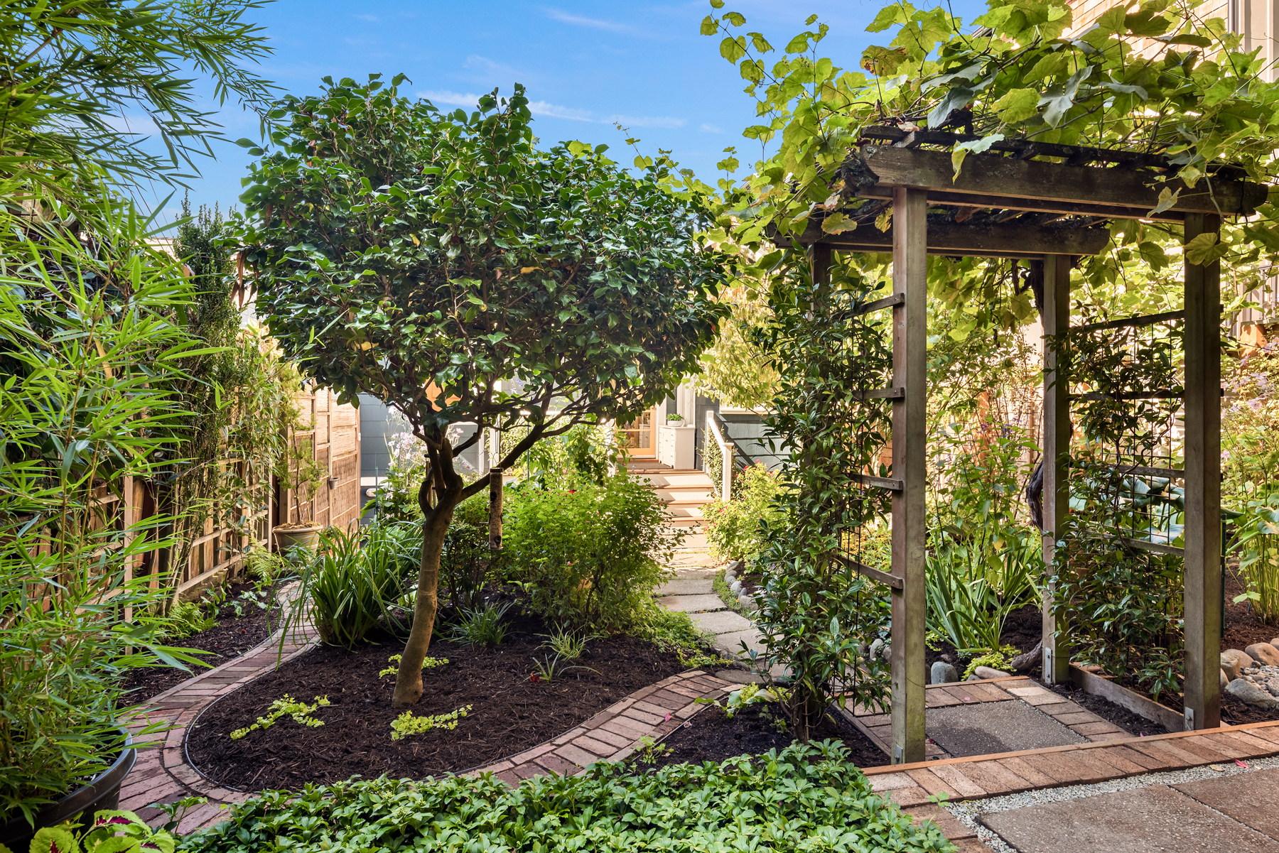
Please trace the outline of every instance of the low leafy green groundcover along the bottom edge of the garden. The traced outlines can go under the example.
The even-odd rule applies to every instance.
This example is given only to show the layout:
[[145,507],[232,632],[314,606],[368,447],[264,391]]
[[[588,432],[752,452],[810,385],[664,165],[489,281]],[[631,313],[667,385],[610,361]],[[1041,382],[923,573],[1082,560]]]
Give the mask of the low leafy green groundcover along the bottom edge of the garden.
[[954,849],[936,826],[914,826],[871,793],[844,747],[831,742],[651,775],[596,763],[578,776],[537,776],[515,789],[486,775],[267,792],[234,806],[228,821],[183,838],[179,849],[258,853],[280,849],[285,839],[290,853]]

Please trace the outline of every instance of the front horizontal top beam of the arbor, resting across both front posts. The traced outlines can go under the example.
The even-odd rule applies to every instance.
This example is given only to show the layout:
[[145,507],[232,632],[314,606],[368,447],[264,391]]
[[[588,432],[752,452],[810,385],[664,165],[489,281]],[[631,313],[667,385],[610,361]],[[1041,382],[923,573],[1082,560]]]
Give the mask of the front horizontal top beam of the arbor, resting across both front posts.
[[1191,189],[1179,180],[1155,184],[1150,173],[993,155],[968,155],[957,178],[950,155],[944,151],[867,146],[861,156],[877,178],[876,183],[890,187],[1035,198],[1041,202],[1086,202],[1147,211],[1159,205],[1160,189],[1169,188],[1181,189],[1177,203],[1169,210],[1225,215],[1253,214],[1266,200],[1265,187],[1241,180],[1200,180]]

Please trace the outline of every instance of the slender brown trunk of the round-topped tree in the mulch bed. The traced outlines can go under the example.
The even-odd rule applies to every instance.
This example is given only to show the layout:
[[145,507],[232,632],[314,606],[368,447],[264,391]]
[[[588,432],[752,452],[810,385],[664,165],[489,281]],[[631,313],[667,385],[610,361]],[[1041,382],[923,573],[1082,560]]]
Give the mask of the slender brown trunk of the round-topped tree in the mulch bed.
[[395,693],[391,696],[391,706],[398,708],[416,705],[422,698],[422,661],[431,646],[439,601],[440,551],[449,532],[449,522],[453,520],[453,510],[462,501],[463,482],[453,469],[453,449],[449,442],[443,441],[440,451],[432,450],[430,455],[431,464],[417,494],[422,508],[422,561],[417,572],[417,604],[413,607],[413,627],[395,675]]

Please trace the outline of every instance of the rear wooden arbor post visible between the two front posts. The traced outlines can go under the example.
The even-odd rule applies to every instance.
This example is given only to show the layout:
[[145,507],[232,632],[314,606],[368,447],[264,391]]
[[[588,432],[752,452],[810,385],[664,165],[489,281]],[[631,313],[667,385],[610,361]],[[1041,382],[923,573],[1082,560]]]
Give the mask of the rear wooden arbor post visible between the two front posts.
[[1053,558],[1069,509],[1067,462],[1071,453],[1069,353],[1071,258],[1049,254],[1044,261],[1044,682],[1071,680],[1071,647],[1065,625],[1053,615]]

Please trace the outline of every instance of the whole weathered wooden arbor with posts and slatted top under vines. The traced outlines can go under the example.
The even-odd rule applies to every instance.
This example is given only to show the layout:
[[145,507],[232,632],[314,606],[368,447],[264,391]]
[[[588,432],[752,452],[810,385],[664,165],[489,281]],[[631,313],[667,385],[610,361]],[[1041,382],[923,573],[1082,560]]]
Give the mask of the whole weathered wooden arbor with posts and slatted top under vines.
[[[1071,266],[1074,256],[1105,249],[1109,219],[1181,223],[1186,240],[1220,230],[1223,215],[1247,215],[1266,198],[1266,188],[1223,169],[1193,189],[1181,182],[1156,183],[1151,170],[1166,170],[1157,156],[1033,143],[999,142],[989,153],[968,155],[954,176],[949,148],[963,137],[941,132],[906,133],[870,128],[840,176],[861,198],[875,200],[845,216],[858,226],[826,234],[808,220],[801,244],[808,246],[815,280],[829,278],[831,251],[893,252],[893,478],[877,481],[893,494],[893,657],[891,711],[895,763],[923,760],[925,634],[925,412],[927,254],[1023,258],[1044,281],[1044,334],[1069,327]],[[875,145],[880,143],[880,145]],[[923,150],[939,146],[944,150]],[[1048,156],[1062,162],[1033,160]],[[1175,201],[1159,206],[1159,189]],[[891,210],[880,231],[877,215]],[[930,212],[931,211],[931,212]],[[784,242],[781,242],[784,243]],[[1184,286],[1184,638],[1186,726],[1220,723],[1220,304],[1219,263],[1186,263]],[[1141,325],[1143,318],[1123,321]],[[1046,348],[1044,384],[1044,556],[1051,561],[1067,512],[1065,460],[1069,450],[1069,398],[1056,384],[1055,356]],[[1140,544],[1138,544],[1140,545]],[[1169,550],[1161,547],[1159,550]],[[1210,604],[1212,602],[1212,604]],[[1067,629],[1044,609],[1044,674],[1068,677]]]

